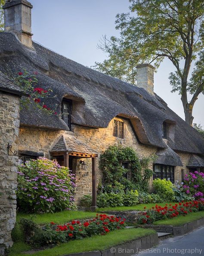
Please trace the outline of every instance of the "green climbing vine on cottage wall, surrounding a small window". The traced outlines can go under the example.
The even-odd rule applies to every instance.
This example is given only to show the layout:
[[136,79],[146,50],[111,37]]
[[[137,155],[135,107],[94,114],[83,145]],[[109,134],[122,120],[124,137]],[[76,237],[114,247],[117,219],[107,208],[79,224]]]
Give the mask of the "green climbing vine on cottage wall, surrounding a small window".
[[108,147],[100,157],[103,179],[99,190],[108,193],[131,189],[147,191],[149,179],[153,175],[149,164],[154,159],[153,155],[140,159],[132,147]]

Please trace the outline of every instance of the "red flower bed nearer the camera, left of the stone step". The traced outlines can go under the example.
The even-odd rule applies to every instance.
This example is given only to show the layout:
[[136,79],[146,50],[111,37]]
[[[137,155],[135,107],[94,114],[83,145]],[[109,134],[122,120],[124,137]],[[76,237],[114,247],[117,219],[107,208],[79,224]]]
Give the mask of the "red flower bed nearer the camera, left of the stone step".
[[[50,224],[43,229],[51,229],[53,232],[59,233],[59,235],[56,234],[56,237],[60,239],[63,235],[63,240],[68,241],[97,234],[105,235],[112,230],[123,229],[125,227],[124,221],[125,219],[116,218],[113,215],[96,214],[96,218],[88,221],[74,220],[64,225],[56,225],[54,222],[50,222]],[[56,242],[61,241],[56,240]]]

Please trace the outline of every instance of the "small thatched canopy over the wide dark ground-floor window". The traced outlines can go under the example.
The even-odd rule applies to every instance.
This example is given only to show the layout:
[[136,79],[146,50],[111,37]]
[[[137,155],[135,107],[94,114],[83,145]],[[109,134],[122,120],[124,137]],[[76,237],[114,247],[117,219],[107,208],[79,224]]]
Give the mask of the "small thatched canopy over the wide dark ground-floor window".
[[179,155],[176,154],[176,152],[174,152],[170,147],[158,150],[156,155],[158,158],[155,160],[155,163],[172,166],[183,166]]

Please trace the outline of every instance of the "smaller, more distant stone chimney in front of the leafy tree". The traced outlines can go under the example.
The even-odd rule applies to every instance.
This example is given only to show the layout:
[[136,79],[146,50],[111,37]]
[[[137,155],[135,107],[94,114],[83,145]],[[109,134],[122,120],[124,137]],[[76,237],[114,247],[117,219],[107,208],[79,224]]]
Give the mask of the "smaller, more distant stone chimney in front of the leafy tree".
[[145,88],[148,93],[154,95],[154,70],[155,68],[148,64],[139,64],[137,67],[137,86]]

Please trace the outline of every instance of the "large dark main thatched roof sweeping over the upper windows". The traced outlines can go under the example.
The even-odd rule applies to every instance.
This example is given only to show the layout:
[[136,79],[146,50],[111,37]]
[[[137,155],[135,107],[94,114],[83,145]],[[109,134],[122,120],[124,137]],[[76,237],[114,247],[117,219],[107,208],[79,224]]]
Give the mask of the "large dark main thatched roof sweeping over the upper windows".
[[[204,153],[204,140],[187,125],[156,94],[133,86],[114,77],[71,61],[43,46],[33,43],[34,51],[22,45],[15,35],[0,33],[0,70],[15,74],[25,68],[38,71],[39,85],[52,89],[53,96],[46,105],[60,112],[64,96],[73,100],[71,122],[95,128],[106,128],[117,115],[129,118],[139,141],[143,144],[166,148],[162,140],[162,123],[172,126],[169,146],[174,150]],[[24,109],[21,125],[68,130],[57,116],[47,116]]]

